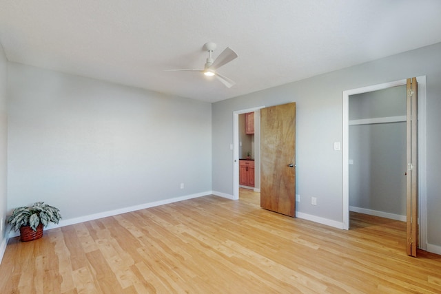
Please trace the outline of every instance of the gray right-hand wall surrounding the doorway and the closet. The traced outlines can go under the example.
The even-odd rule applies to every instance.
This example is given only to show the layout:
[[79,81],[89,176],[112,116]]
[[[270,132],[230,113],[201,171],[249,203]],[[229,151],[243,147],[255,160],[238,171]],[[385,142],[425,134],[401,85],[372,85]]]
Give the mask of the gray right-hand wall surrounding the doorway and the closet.
[[[293,69],[295,70],[295,69]],[[212,105],[213,190],[232,195],[232,112],[296,102],[298,211],[342,222],[342,91],[427,75],[427,234],[441,246],[441,43]],[[311,197],[317,205],[311,205]]]

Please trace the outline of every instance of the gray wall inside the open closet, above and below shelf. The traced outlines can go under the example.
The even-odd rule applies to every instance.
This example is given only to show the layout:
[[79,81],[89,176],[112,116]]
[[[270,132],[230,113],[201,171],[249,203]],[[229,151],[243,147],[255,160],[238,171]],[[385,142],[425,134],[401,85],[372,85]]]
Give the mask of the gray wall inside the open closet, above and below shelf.
[[[406,116],[406,86],[349,96],[349,120]],[[349,126],[349,205],[406,216],[406,123]]]

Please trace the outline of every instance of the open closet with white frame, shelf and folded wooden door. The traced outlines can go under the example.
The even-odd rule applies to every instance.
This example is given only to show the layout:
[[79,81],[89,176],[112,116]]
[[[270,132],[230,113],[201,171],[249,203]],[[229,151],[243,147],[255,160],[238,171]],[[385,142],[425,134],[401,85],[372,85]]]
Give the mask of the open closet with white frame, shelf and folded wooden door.
[[425,76],[344,91],[342,105],[343,228],[378,218],[404,228],[409,255],[425,250]]

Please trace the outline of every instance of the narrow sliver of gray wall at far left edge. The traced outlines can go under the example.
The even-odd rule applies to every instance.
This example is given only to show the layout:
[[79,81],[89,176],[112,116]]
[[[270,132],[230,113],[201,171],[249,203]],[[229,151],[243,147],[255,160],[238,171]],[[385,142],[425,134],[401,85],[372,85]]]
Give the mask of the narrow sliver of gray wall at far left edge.
[[0,260],[1,247],[6,246],[7,232],[5,229],[6,207],[7,207],[7,150],[8,150],[8,115],[6,110],[6,88],[7,88],[7,70],[8,63],[6,61],[3,47],[0,44]]

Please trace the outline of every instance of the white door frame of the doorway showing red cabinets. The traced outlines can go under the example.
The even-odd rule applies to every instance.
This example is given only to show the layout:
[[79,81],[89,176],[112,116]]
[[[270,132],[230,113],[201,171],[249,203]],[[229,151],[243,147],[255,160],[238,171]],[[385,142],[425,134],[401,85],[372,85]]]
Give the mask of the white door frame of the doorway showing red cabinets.
[[[258,106],[248,109],[236,110],[233,112],[233,200],[239,199],[239,114],[246,114],[248,112],[256,112],[265,108],[265,106]],[[256,121],[256,116],[254,116],[254,121]],[[259,124],[260,124],[260,120]],[[259,125],[260,126],[260,125]],[[254,134],[254,146],[260,147],[260,127],[258,129],[258,134]],[[260,162],[260,152],[258,154]],[[260,169],[258,169],[260,171]],[[260,176],[260,172],[258,174]],[[260,182],[260,181],[258,181]]]

